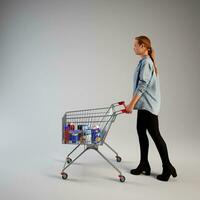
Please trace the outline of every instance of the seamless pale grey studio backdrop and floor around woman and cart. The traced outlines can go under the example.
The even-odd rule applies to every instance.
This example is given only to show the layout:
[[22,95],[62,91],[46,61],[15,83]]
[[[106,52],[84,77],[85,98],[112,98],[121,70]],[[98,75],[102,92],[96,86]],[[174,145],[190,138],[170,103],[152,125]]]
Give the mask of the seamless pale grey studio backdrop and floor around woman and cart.
[[[1,1],[0,198],[101,199],[104,190],[116,199],[199,199],[199,8],[198,1]],[[140,59],[132,41],[141,34],[156,51],[160,130],[178,178],[155,180],[162,167],[151,139],[153,177],[129,174],[139,160],[134,111],[119,116],[107,137],[126,183],[92,152],[63,181],[72,149],[61,144],[63,113],[130,101]]]

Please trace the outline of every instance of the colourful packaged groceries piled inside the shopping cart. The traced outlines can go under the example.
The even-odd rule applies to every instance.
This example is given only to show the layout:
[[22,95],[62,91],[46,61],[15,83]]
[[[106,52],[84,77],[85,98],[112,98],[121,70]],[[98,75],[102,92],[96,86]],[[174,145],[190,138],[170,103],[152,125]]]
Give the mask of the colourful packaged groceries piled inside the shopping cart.
[[98,125],[89,126],[69,123],[64,126],[64,144],[100,144],[103,139],[103,130]]

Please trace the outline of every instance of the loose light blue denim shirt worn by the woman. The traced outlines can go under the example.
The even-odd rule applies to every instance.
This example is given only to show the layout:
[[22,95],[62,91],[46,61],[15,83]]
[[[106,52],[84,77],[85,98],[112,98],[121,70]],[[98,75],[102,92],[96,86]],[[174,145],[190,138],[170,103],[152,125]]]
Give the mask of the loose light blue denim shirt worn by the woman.
[[133,95],[140,96],[134,110],[147,110],[154,115],[159,114],[161,104],[159,75],[156,76],[149,56],[143,57],[135,69]]

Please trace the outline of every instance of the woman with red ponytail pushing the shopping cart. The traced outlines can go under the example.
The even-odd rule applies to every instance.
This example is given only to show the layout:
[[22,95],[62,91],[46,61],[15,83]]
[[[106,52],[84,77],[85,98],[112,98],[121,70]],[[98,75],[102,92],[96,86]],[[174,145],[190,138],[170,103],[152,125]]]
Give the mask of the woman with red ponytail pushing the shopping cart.
[[137,113],[137,133],[140,143],[140,163],[131,174],[139,175],[145,173],[150,175],[151,168],[148,162],[149,141],[146,134],[148,130],[158,152],[163,166],[162,174],[157,176],[158,180],[168,181],[170,176],[177,176],[176,169],[169,160],[167,146],[159,131],[158,114],[160,111],[160,86],[157,66],[155,64],[155,52],[152,49],[151,41],[146,36],[139,36],[134,41],[134,51],[141,56],[134,73],[134,90],[126,111],[131,113],[133,109]]

